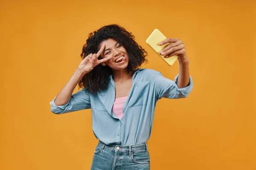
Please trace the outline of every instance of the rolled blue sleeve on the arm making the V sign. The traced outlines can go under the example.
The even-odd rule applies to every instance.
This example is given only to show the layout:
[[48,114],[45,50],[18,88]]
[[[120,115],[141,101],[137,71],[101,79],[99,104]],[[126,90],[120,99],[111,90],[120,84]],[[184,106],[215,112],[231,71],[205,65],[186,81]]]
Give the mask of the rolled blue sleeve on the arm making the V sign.
[[69,113],[83,109],[90,109],[90,95],[83,88],[81,91],[71,95],[70,101],[64,105],[55,105],[55,98],[50,102],[51,111],[55,114]]

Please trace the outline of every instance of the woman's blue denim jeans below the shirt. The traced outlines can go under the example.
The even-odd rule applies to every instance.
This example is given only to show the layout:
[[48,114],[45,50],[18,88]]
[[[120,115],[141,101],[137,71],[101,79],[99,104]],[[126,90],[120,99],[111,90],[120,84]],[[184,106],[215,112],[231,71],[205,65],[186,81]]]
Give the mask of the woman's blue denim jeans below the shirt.
[[150,170],[148,145],[106,145],[99,141],[91,170]]

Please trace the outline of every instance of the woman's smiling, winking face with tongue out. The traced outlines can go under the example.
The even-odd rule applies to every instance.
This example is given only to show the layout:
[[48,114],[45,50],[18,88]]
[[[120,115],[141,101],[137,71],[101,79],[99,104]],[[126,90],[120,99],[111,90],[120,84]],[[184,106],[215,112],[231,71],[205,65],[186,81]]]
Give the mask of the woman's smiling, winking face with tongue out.
[[103,63],[108,65],[112,70],[122,70],[125,69],[129,62],[128,54],[125,48],[122,46],[120,42],[117,42],[113,39],[108,39],[102,41],[100,47],[105,45],[105,49],[101,54],[102,58],[112,57],[112,59],[108,60],[107,62]]

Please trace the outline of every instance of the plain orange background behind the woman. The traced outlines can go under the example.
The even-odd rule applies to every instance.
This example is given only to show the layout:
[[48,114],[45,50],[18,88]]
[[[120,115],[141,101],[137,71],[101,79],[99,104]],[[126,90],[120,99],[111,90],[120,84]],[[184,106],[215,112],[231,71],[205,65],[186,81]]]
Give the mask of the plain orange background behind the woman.
[[151,169],[256,170],[255,18],[253,0],[1,0],[0,169],[90,169],[90,110],[55,115],[49,102],[88,34],[118,23],[148,51],[144,68],[178,73],[146,45],[154,28],[183,40],[190,59],[191,94],[157,103]]

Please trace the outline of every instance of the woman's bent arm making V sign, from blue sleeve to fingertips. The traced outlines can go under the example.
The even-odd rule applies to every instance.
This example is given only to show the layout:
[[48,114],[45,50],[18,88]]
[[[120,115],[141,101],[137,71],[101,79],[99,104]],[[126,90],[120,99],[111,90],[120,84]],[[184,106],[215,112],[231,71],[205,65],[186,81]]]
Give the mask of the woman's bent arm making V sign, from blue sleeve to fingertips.
[[98,57],[104,48],[105,45],[102,45],[97,54],[89,54],[80,62],[73,76],[52,100],[52,102],[50,102],[50,105],[52,106],[51,111],[53,113],[61,114],[90,108],[90,96],[84,88],[76,94],[72,95],[72,93],[80,79],[85,74],[92,71],[96,65],[111,59],[111,57],[107,57],[98,60]]

